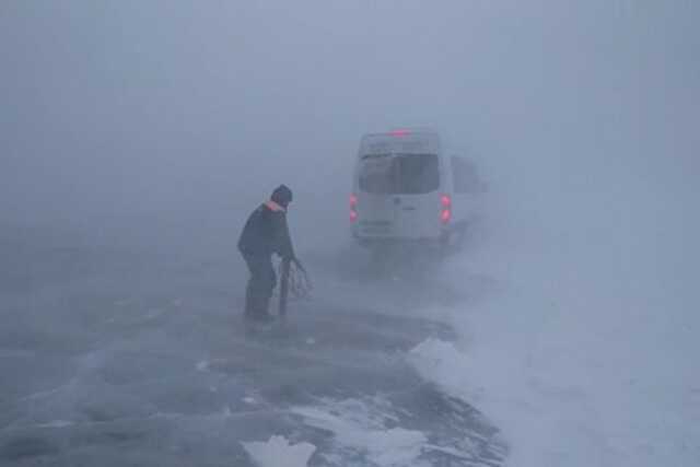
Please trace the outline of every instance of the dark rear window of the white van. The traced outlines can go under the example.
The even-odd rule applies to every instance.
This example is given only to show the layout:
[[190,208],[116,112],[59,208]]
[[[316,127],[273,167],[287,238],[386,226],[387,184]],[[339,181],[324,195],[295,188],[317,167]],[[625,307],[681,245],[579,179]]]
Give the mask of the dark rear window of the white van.
[[421,195],[440,187],[435,154],[371,154],[361,160],[360,189],[376,195]]

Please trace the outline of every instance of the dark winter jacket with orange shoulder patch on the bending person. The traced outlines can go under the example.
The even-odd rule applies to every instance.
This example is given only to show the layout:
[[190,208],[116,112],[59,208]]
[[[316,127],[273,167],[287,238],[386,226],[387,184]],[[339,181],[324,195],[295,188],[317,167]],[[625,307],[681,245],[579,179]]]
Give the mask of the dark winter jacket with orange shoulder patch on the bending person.
[[292,240],[287,225],[287,210],[275,201],[267,201],[248,217],[238,249],[244,255],[271,255],[282,258],[294,257]]

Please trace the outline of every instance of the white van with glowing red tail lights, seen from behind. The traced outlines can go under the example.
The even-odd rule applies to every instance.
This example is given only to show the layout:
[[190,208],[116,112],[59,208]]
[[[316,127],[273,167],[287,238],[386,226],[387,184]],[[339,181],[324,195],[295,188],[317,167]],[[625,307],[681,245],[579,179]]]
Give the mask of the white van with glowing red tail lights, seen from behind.
[[457,245],[478,215],[481,189],[474,164],[447,155],[435,131],[365,135],[350,195],[352,236],[364,246]]

